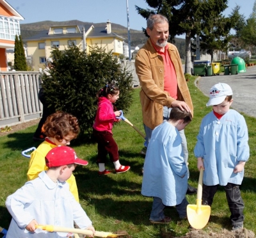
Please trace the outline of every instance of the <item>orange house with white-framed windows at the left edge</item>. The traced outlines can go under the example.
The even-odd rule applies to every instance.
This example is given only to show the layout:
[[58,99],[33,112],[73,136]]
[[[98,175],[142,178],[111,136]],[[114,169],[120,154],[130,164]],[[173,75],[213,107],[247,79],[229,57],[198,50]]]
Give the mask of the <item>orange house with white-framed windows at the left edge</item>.
[[20,20],[24,20],[14,8],[0,0],[0,71],[7,71],[6,49],[14,48],[15,35],[20,35]]

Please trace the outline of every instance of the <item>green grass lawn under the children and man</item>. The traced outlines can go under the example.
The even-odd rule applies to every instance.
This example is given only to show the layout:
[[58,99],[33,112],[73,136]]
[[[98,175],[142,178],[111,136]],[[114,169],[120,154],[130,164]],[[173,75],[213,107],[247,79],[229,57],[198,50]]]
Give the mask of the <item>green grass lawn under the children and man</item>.
[[[193,121],[186,127],[186,137],[189,149],[189,184],[197,186],[198,170],[193,148],[196,143],[200,122],[211,111],[211,107],[205,106],[207,97],[195,86],[195,77],[188,81],[189,90],[194,104]],[[209,85],[210,87],[211,85]],[[139,99],[140,89],[134,89],[134,100],[129,113],[125,117],[141,131],[141,107]],[[120,98],[122,100],[122,97]],[[236,99],[234,99],[236,100]],[[244,115],[245,116],[245,115]],[[256,233],[256,194],[255,194],[255,157],[256,157],[256,118],[245,116],[249,130],[250,160],[245,166],[245,177],[241,186],[241,193],[245,203],[244,227]],[[0,226],[8,228],[11,216],[4,205],[6,197],[15,192],[26,182],[26,172],[29,160],[22,157],[21,151],[29,147],[37,147],[39,144],[32,141],[36,126],[24,131],[19,131],[0,137]],[[141,196],[141,168],[144,156],[140,154],[143,148],[143,138],[131,126],[120,122],[113,129],[114,138],[120,150],[120,163],[130,165],[127,173],[111,174],[99,177],[95,163],[97,145],[93,140],[72,141],[77,155],[89,161],[88,166],[77,166],[74,175],[81,205],[93,221],[93,225],[99,231],[116,232],[126,231],[132,238],[148,237],[178,237],[188,232],[188,221],[179,219],[177,211],[173,207],[165,209],[166,216],[172,217],[172,223],[168,225],[152,225],[149,222],[149,214],[152,207],[152,198]],[[109,170],[113,170],[112,163],[106,164]],[[196,203],[196,195],[187,196],[189,203]],[[205,232],[212,230],[218,232],[222,228],[230,230],[230,212],[223,187],[214,197],[211,210],[211,218]],[[0,235],[1,237],[1,235]],[[14,238],[14,237],[13,237]]]

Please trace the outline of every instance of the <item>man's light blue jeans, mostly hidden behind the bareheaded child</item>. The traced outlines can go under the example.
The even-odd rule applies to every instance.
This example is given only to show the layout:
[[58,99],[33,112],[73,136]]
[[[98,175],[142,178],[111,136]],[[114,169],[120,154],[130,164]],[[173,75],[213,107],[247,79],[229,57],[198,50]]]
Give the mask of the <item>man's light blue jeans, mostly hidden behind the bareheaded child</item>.
[[[164,106],[164,111],[163,111],[163,120],[169,120],[170,117],[170,112],[172,111],[172,107],[166,107]],[[148,143],[150,141],[151,135],[152,135],[152,129],[147,127],[147,125],[144,125],[144,130],[146,133],[146,138],[145,138],[145,147],[148,146]],[[182,146],[182,151],[183,151],[183,156],[184,156],[184,162],[187,164],[188,168],[188,146],[187,146],[187,139],[184,133],[184,130],[179,131],[180,137],[181,137],[181,146]],[[188,170],[188,178],[189,178],[189,170]]]

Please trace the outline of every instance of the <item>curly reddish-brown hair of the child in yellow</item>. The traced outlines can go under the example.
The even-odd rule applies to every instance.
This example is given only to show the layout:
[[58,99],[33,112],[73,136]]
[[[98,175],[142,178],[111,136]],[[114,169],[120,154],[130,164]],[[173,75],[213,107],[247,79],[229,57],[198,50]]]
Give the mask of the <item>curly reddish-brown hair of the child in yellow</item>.
[[57,111],[47,117],[42,131],[48,137],[56,138],[61,141],[68,134],[72,134],[77,138],[79,133],[79,123],[76,116],[63,111]]

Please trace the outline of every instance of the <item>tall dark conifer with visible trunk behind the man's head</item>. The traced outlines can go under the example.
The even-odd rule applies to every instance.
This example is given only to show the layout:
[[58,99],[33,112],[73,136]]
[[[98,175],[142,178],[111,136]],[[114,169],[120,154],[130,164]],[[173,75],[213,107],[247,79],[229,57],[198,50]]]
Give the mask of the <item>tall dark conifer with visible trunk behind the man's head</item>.
[[[185,73],[191,71],[191,39],[202,35],[205,29],[209,33],[221,25],[223,31],[230,31],[232,21],[220,15],[227,8],[228,0],[146,0],[153,8],[144,10],[136,6],[138,13],[144,18],[150,13],[161,13],[167,17],[170,26],[170,41],[174,36],[186,34],[186,63]],[[166,9],[169,9],[166,15]],[[212,41],[216,40],[214,35]]]

